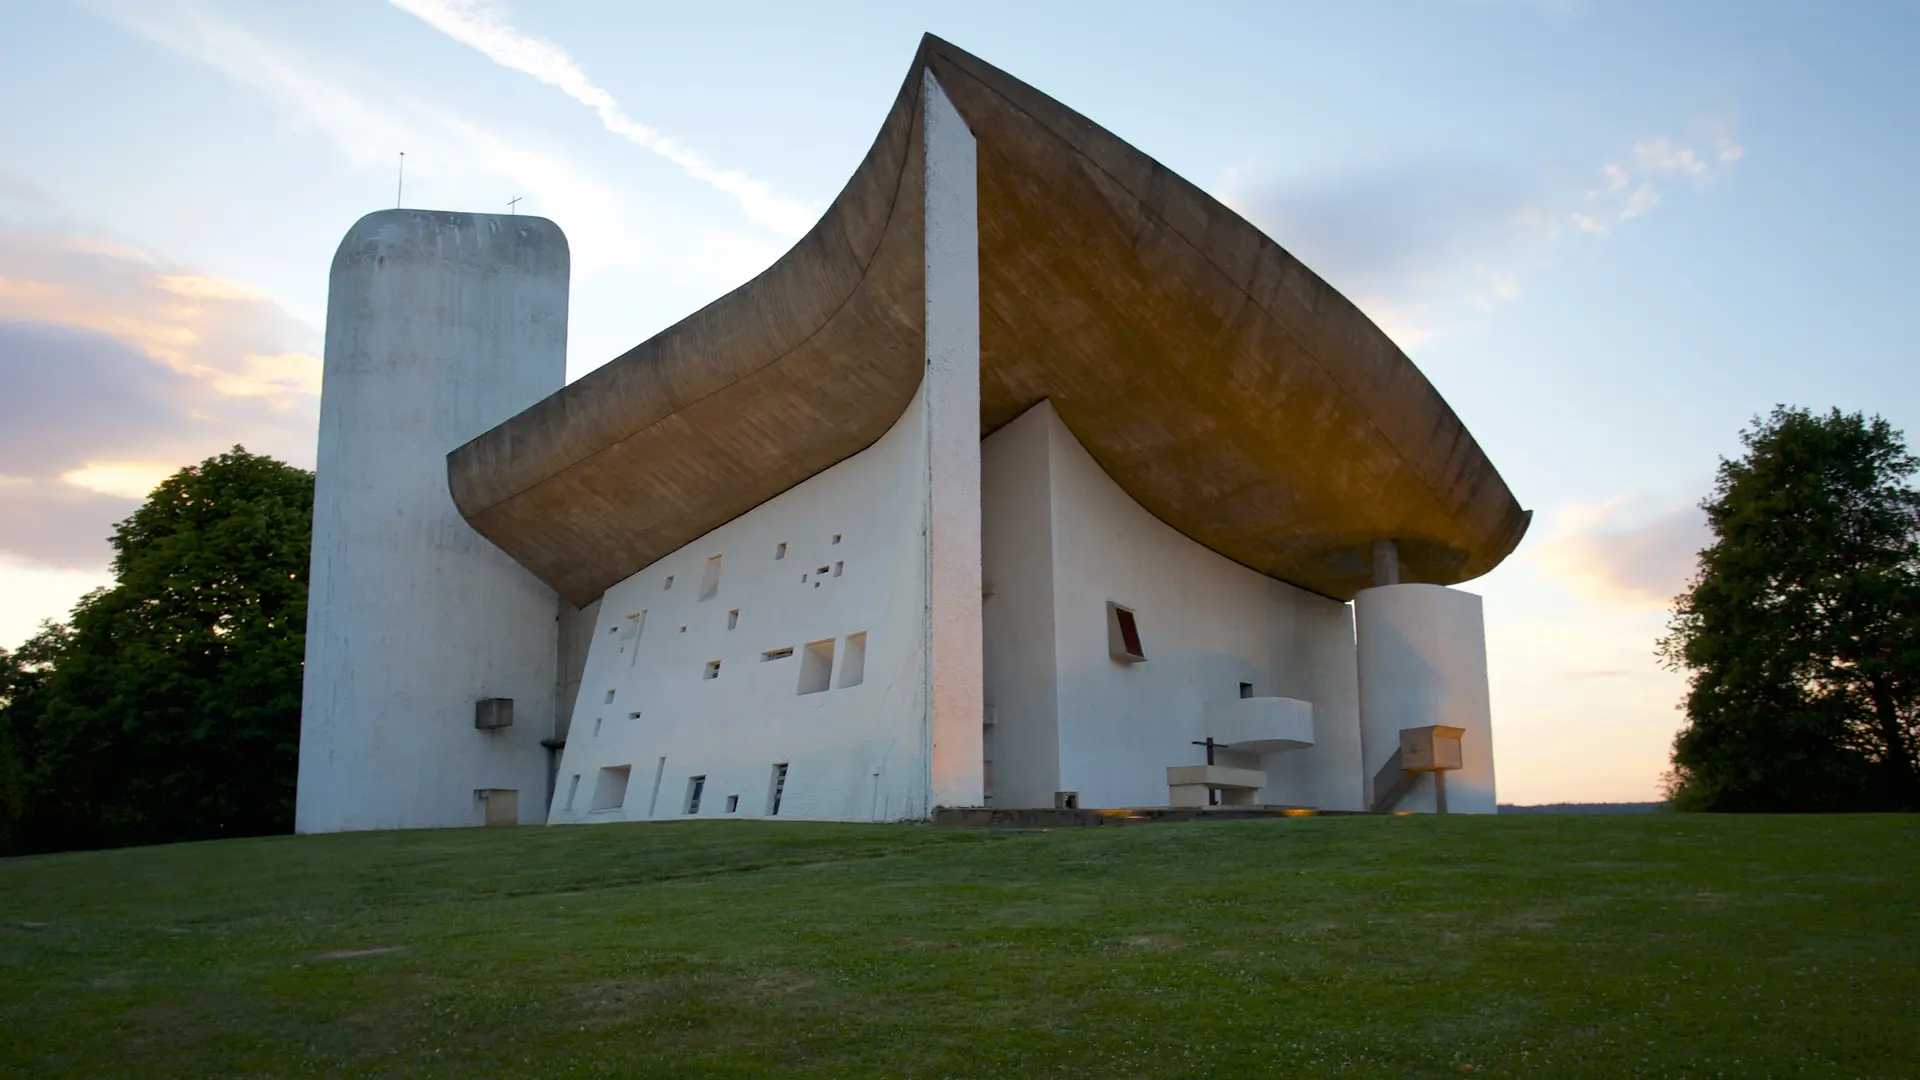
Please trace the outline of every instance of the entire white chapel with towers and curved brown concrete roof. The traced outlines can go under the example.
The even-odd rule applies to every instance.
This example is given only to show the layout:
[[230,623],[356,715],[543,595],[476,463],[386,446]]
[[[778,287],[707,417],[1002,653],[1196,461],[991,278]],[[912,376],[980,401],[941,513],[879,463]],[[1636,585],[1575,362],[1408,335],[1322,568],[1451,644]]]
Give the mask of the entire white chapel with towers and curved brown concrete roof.
[[1212,196],[927,37],[820,223],[568,384],[551,221],[330,279],[296,826],[1494,811],[1528,525]]

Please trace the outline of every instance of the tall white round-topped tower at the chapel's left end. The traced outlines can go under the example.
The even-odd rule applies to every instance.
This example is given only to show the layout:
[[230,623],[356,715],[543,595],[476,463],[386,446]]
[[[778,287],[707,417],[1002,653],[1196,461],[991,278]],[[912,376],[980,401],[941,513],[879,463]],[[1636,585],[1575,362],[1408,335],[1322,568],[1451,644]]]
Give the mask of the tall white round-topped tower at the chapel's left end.
[[541,217],[382,209],[334,254],[298,832],[545,819],[559,600],[461,519],[447,452],[566,382],[566,279]]

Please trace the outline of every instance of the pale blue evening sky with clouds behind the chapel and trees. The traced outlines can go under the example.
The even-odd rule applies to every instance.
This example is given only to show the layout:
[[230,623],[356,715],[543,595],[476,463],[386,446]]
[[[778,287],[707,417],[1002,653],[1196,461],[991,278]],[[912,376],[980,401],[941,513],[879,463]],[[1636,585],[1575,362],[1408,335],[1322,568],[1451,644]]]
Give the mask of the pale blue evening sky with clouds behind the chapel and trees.
[[1260,225],[1534,511],[1486,598],[1503,801],[1657,798],[1653,644],[1776,404],[1920,438],[1920,6],[10,0],[0,646],[232,444],[311,467],[326,273],[394,206],[572,244],[568,375],[772,263],[922,33]]

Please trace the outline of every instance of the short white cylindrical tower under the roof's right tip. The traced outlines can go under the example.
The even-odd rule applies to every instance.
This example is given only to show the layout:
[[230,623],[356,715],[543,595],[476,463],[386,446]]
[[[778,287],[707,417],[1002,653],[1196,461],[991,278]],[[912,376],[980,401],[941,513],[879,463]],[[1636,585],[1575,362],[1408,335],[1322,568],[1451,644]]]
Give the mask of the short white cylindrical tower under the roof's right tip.
[[[1448,771],[1450,813],[1496,813],[1494,721],[1486,692],[1486,619],[1480,598],[1438,584],[1384,584],[1354,596],[1359,644],[1359,748],[1367,803],[1375,774],[1400,749],[1402,728],[1465,728],[1461,767]],[[1423,774],[1392,809],[1434,809]]]

